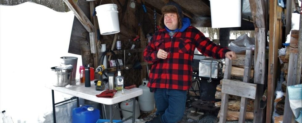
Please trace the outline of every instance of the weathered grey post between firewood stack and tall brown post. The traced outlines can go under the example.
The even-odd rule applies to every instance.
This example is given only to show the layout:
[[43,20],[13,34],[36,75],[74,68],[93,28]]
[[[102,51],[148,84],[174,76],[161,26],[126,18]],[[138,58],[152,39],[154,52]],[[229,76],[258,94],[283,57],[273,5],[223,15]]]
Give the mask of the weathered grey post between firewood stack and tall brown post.
[[[272,0],[270,0],[272,1]],[[254,83],[265,84],[266,65],[265,65],[265,49],[266,49],[266,0],[249,0],[251,13],[255,26],[255,64],[254,64]],[[271,2],[272,3],[272,2]],[[262,97],[263,90],[257,88],[255,97],[254,123],[262,123],[263,109],[259,108],[259,99]]]

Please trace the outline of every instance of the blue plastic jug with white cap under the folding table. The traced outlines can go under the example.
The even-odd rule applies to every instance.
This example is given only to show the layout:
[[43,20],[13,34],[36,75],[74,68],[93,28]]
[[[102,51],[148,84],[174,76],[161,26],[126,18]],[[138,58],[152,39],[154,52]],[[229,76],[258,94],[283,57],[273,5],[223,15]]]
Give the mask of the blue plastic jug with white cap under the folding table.
[[72,110],[72,123],[96,123],[98,119],[100,119],[100,110],[90,105]]

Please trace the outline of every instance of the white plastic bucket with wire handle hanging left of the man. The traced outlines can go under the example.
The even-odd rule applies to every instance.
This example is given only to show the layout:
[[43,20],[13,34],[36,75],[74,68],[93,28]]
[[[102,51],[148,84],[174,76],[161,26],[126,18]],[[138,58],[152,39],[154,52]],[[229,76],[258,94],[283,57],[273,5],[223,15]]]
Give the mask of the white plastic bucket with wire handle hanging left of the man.
[[108,35],[120,32],[116,4],[103,4],[96,6],[96,16],[100,26],[100,34]]

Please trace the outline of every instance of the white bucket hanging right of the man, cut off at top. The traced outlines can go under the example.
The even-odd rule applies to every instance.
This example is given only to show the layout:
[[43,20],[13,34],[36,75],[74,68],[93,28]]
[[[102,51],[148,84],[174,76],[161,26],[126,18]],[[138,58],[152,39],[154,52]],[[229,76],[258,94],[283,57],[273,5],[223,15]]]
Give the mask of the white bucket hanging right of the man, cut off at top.
[[212,28],[240,27],[241,0],[210,0]]

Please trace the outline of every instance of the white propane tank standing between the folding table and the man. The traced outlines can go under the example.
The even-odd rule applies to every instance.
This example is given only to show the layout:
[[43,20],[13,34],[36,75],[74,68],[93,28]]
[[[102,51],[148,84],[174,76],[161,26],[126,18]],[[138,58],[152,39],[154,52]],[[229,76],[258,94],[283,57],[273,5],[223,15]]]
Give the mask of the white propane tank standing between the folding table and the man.
[[147,87],[148,82],[149,81],[144,78],[143,84],[138,87],[143,89],[143,94],[138,96],[140,109],[143,112],[151,112],[155,108],[154,93],[151,93],[149,87]]

